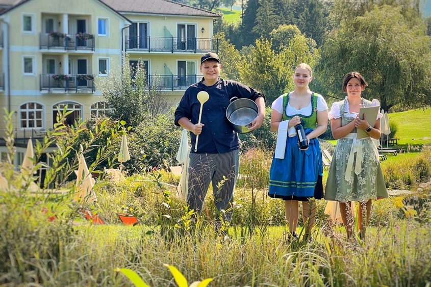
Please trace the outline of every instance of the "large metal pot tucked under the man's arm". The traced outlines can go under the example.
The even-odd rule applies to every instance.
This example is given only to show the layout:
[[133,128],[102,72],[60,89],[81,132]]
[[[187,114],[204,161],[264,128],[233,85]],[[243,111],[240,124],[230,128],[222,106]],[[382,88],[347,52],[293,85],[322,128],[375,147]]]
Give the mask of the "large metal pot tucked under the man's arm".
[[251,132],[249,127],[259,114],[256,102],[250,99],[231,98],[231,103],[227,106],[226,118],[231,123],[235,132],[246,134]]

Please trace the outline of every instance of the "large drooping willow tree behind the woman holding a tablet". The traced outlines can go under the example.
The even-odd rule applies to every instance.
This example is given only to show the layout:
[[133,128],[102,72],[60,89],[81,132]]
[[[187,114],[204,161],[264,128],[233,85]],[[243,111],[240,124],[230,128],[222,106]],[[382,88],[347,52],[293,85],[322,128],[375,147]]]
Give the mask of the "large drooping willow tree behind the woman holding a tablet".
[[344,74],[358,71],[369,84],[364,97],[379,99],[385,111],[429,105],[430,39],[424,25],[412,27],[402,12],[402,6],[375,7],[329,35],[318,67],[324,92],[342,98]]

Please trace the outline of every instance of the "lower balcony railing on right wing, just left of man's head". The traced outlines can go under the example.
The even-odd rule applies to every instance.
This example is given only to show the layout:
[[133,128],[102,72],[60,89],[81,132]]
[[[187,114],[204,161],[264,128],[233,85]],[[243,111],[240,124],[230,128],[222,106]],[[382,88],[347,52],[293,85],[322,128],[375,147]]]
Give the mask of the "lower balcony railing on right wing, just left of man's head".
[[197,75],[148,75],[149,86],[163,90],[185,90],[197,82]]

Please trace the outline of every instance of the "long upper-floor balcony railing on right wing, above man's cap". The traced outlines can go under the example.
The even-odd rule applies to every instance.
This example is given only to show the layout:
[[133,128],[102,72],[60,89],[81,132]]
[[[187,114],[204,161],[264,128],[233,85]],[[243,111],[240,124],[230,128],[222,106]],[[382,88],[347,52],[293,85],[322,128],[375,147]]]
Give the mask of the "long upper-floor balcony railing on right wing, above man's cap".
[[218,53],[218,39],[126,36],[125,50]]

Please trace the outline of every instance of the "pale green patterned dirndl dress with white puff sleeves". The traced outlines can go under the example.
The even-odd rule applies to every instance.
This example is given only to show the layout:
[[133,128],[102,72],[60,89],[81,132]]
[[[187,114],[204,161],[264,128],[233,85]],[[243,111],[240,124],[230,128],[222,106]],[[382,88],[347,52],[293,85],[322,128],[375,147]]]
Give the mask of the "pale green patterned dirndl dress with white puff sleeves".
[[[345,113],[345,100],[336,103],[340,106],[341,126],[354,120]],[[371,101],[363,99],[363,107],[370,107]],[[355,128],[351,134],[356,134]],[[351,135],[349,134],[349,135]],[[378,159],[377,147],[370,137],[363,138],[359,148],[362,150],[361,170],[359,174],[354,172],[356,167],[357,152],[354,152],[353,166],[347,170],[349,155],[356,136],[346,136],[337,141],[334,155],[329,168],[325,187],[325,199],[339,202],[359,201],[366,202],[370,199],[388,198],[385,179]],[[346,179],[346,172],[350,174]]]

